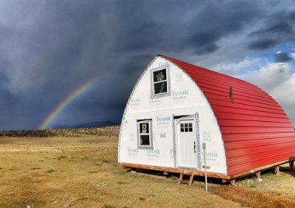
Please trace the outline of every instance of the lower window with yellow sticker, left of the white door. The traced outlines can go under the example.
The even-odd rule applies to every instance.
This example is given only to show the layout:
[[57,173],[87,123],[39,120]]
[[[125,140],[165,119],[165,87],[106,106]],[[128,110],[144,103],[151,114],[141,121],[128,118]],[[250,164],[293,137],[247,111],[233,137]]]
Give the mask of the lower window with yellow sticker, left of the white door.
[[139,149],[152,149],[152,133],[151,133],[151,120],[141,120],[138,125],[138,146]]

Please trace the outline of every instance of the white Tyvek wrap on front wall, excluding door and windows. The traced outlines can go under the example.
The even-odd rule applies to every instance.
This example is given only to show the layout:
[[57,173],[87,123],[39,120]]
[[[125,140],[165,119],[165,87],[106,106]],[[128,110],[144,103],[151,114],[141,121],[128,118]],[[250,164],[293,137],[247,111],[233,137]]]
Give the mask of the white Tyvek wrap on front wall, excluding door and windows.
[[[155,97],[152,93],[152,71],[161,68],[167,68],[169,93]],[[173,115],[198,115],[198,162],[195,169],[203,170],[203,150],[200,147],[205,140],[210,171],[226,174],[222,137],[208,100],[191,76],[161,56],[151,61],[128,100],[119,135],[119,162],[178,167]],[[152,119],[153,150],[138,148],[136,121],[144,119]]]

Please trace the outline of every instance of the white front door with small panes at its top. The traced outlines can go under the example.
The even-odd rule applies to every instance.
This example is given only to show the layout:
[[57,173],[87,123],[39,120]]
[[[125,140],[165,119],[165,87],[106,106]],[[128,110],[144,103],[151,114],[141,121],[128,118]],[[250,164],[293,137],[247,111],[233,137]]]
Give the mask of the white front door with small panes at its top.
[[193,116],[176,120],[178,167],[198,167],[195,120]]

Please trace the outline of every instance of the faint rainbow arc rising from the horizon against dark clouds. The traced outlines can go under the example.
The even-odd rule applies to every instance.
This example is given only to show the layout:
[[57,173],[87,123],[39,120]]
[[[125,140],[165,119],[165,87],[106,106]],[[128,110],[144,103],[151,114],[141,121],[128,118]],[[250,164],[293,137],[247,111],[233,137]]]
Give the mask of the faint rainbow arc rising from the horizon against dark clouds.
[[55,108],[46,116],[41,125],[38,126],[38,130],[45,129],[49,125],[49,123],[58,115],[58,113],[60,113],[60,111],[65,108],[65,106],[67,106],[71,101],[77,98],[77,96],[85,92],[85,90],[87,90],[87,88],[89,88],[93,83],[95,83],[95,80],[87,81],[87,83],[83,83],[78,88],[73,90],[70,95],[68,95],[60,103],[58,103],[58,105],[56,105]]

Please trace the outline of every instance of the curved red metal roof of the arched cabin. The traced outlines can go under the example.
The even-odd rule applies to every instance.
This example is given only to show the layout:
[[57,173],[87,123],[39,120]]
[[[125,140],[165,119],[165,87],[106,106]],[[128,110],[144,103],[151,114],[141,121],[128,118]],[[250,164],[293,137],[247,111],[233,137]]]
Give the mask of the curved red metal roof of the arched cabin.
[[295,157],[294,127],[274,98],[244,80],[162,57],[186,71],[208,99],[222,133],[227,175]]

